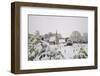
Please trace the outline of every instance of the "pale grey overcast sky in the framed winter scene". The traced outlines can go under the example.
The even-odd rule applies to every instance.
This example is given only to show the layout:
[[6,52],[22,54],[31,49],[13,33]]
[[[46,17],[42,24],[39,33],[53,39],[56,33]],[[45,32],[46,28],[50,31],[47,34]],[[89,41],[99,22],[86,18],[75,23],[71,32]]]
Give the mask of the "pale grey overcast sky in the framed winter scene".
[[87,17],[29,15],[28,21],[30,34],[34,34],[36,30],[40,34],[55,33],[57,30],[62,36],[70,36],[73,31],[81,34],[88,32]]

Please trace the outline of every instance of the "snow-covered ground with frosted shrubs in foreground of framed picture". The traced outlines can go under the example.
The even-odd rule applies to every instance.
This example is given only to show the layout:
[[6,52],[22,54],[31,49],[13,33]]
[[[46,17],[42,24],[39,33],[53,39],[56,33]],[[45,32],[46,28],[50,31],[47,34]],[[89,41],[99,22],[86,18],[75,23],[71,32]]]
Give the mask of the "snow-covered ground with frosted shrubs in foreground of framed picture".
[[[31,48],[31,49],[30,49]],[[88,44],[74,43],[72,46],[65,44],[50,45],[45,41],[31,45],[28,60],[59,60],[81,59],[88,57]]]

